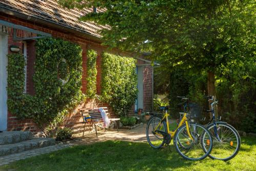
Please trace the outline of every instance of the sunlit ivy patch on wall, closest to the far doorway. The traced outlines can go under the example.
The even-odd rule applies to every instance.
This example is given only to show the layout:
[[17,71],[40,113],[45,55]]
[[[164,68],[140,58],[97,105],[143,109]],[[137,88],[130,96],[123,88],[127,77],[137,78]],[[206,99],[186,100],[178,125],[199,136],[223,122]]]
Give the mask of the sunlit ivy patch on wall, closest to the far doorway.
[[119,116],[126,115],[137,97],[135,62],[133,58],[102,54],[101,100]]

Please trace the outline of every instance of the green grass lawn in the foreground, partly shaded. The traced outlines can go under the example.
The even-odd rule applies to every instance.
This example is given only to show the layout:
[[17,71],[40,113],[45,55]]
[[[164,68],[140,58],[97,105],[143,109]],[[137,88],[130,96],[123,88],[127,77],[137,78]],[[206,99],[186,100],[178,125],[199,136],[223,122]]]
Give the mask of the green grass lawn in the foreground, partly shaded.
[[256,138],[242,138],[238,155],[228,162],[184,160],[170,148],[147,143],[106,141],[75,146],[0,167],[0,170],[255,170]]

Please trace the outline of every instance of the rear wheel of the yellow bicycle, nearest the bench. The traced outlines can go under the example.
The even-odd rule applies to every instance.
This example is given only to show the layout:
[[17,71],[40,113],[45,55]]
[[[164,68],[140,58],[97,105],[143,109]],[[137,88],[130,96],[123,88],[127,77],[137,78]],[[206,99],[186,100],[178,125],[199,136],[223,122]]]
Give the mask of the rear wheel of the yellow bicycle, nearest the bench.
[[167,126],[164,121],[158,117],[152,117],[146,126],[146,139],[148,144],[153,148],[160,148],[163,146],[163,136],[156,131],[163,131],[167,133]]

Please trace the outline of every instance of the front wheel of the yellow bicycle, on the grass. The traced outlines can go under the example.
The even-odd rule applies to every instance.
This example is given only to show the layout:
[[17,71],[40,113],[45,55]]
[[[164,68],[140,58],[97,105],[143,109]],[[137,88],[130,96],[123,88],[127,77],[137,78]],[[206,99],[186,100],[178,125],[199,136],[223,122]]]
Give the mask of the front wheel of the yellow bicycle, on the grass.
[[189,123],[189,133],[193,139],[188,136],[186,125],[182,125],[176,131],[174,137],[174,146],[178,153],[188,160],[202,160],[206,158],[212,149],[212,137],[210,132],[202,125]]

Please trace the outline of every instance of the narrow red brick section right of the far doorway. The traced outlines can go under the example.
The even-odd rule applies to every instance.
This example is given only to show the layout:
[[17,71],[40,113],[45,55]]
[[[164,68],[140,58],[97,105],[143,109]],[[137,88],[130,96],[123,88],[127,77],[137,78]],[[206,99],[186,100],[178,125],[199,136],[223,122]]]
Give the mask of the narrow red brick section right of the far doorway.
[[152,111],[153,105],[153,67],[144,66],[143,70],[143,110]]

